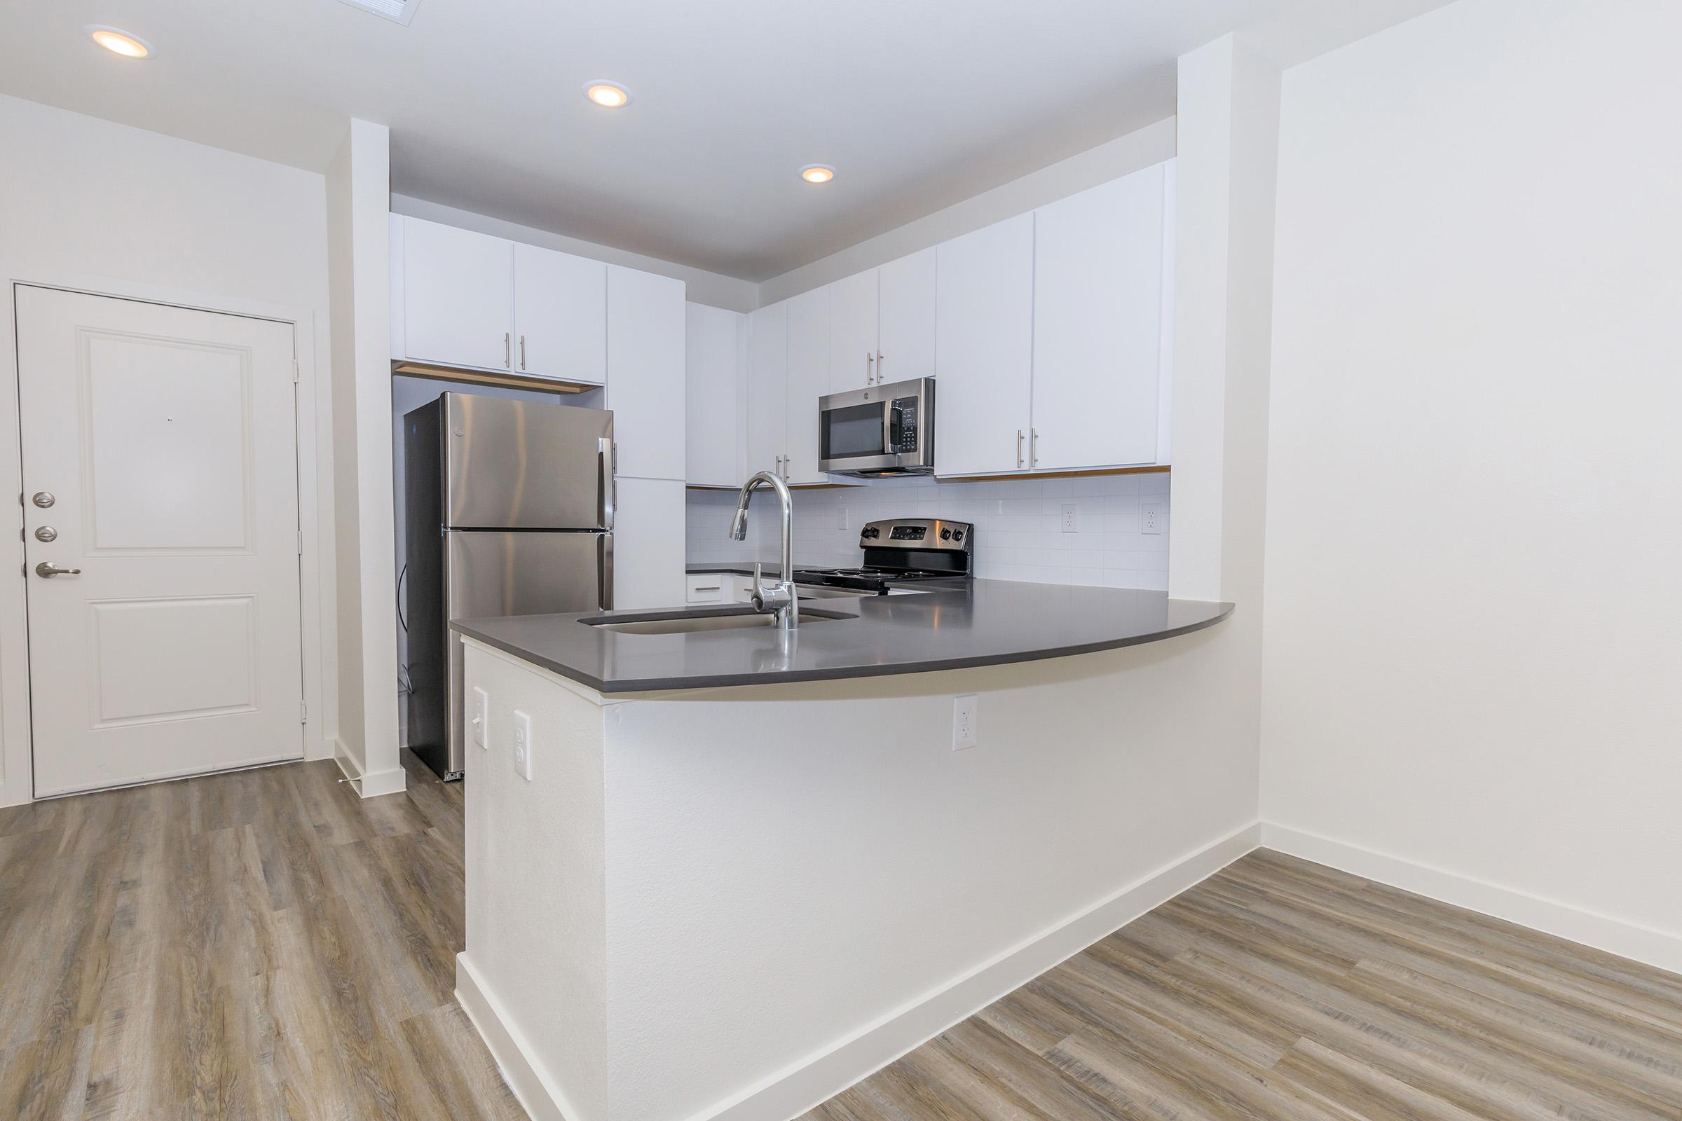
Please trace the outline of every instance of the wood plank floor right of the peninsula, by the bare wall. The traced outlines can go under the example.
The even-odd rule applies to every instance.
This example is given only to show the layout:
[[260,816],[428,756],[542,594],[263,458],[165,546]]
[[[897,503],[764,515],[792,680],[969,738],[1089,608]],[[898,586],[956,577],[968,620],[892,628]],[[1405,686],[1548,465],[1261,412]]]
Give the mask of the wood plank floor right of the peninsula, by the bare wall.
[[1682,976],[1255,852],[804,1121],[1682,1118]]

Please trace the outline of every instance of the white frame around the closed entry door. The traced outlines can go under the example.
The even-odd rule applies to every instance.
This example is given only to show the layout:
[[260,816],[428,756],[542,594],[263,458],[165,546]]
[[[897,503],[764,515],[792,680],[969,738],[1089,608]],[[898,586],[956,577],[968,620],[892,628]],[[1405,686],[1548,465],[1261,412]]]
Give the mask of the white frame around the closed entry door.
[[[0,508],[10,511],[0,524],[0,807],[35,800],[34,738],[30,731],[29,692],[29,592],[24,573],[22,497],[10,506],[10,494],[24,492],[22,417],[19,415],[17,365],[17,292],[19,286],[47,287],[84,296],[130,299],[188,311],[210,311],[249,319],[271,319],[293,328],[293,358],[298,361],[298,528],[303,553],[298,558],[298,607],[303,650],[303,691],[306,718],[299,724],[303,758],[333,755],[336,704],[326,687],[338,674],[333,620],[331,566],[323,565],[333,539],[333,503],[321,492],[331,484],[331,464],[323,464],[328,432],[321,408],[328,403],[318,383],[316,314],[308,308],[289,308],[251,299],[234,299],[207,292],[136,284],[109,277],[84,276],[54,269],[19,269],[0,261],[3,308],[0,308]],[[325,336],[321,336],[325,338]],[[325,363],[321,363],[325,365]],[[15,573],[15,576],[8,575]]]

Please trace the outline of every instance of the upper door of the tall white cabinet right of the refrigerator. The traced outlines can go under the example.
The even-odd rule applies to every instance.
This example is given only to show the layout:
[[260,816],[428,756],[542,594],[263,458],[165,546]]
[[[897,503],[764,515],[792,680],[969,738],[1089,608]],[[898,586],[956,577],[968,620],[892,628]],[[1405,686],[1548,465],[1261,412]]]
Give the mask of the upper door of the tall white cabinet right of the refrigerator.
[[607,407],[616,474],[678,479],[686,469],[683,281],[607,266]]

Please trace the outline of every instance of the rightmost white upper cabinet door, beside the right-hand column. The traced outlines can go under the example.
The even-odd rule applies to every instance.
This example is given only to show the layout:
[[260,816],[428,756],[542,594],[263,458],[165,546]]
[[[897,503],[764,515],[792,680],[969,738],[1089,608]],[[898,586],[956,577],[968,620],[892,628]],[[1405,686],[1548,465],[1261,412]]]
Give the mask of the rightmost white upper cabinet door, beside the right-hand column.
[[1154,166],[1034,215],[1039,469],[1157,461],[1162,207]]

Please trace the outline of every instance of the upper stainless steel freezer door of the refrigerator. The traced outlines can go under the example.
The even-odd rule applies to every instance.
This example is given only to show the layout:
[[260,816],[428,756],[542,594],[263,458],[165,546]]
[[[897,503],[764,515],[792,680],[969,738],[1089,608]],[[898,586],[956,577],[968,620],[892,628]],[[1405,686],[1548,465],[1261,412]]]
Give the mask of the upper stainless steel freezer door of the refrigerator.
[[611,412],[471,393],[441,405],[446,526],[612,529]]

